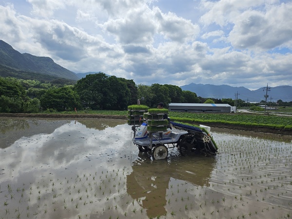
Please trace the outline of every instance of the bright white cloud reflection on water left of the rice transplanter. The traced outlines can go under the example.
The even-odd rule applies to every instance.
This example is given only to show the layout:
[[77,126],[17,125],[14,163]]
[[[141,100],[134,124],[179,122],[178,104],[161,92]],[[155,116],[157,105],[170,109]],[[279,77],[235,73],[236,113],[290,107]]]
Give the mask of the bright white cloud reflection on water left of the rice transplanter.
[[[81,121],[87,122],[85,119]],[[115,126],[119,126],[118,129],[115,129],[114,122]],[[82,168],[88,165],[84,161],[98,159],[101,164],[117,160],[118,156],[125,159],[123,145],[130,146],[131,131],[125,121],[98,119],[88,124],[91,123],[95,123],[92,125],[94,128],[87,128],[74,120],[34,120],[34,124],[38,125],[29,125],[18,132],[16,136],[21,137],[13,139],[12,144],[1,139],[0,182],[30,171],[69,168],[77,163]],[[27,124],[33,122],[28,119]],[[44,127],[48,128],[49,133]],[[97,129],[101,127],[103,130]],[[5,139],[14,136],[16,132],[16,129],[7,131]]]

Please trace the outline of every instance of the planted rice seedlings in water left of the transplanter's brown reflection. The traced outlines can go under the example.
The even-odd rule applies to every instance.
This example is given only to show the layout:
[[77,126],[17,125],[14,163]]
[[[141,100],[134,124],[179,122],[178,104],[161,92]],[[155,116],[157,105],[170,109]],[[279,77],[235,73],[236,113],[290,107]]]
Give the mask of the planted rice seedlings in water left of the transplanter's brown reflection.
[[[118,218],[143,210],[127,194],[129,169],[82,173],[72,178],[44,179],[14,187],[1,184],[2,218]],[[3,210],[2,210],[3,209]],[[145,213],[144,213],[145,214]],[[145,215],[143,216],[145,217]]]

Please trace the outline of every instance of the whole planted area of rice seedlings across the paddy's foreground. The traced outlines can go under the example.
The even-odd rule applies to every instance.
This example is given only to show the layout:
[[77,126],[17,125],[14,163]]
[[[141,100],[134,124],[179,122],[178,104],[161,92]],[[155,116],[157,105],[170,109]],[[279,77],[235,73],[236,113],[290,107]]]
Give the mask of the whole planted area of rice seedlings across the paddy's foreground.
[[171,178],[161,188],[163,179],[153,169],[153,189],[131,194],[126,167],[18,187],[1,184],[1,217],[290,218],[291,145],[250,138],[219,145],[208,184]]

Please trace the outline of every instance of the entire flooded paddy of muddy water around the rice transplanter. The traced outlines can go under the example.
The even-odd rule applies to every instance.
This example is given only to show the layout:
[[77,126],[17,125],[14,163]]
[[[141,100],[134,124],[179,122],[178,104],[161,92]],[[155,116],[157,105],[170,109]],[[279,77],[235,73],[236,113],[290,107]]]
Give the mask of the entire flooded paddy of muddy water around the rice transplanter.
[[155,161],[124,120],[0,118],[1,218],[291,218],[292,137],[211,128]]

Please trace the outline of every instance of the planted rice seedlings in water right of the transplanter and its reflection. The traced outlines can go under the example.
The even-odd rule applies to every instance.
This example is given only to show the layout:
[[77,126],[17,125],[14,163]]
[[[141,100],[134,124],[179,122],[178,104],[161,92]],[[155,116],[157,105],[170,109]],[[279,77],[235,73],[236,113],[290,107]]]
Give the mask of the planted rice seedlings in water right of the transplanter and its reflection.
[[291,145],[257,139],[219,145],[217,168],[208,187],[170,183],[168,214],[183,218],[290,218]]

